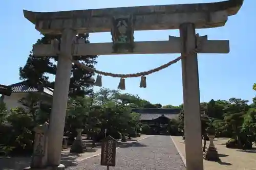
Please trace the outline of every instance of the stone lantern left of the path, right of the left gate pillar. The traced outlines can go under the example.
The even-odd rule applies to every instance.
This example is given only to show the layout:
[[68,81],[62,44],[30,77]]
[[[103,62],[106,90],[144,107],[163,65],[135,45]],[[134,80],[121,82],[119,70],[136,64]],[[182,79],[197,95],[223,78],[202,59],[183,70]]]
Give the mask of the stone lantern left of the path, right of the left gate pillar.
[[86,150],[86,145],[82,144],[82,133],[83,129],[76,129],[77,136],[74,140],[70,153],[83,153]]

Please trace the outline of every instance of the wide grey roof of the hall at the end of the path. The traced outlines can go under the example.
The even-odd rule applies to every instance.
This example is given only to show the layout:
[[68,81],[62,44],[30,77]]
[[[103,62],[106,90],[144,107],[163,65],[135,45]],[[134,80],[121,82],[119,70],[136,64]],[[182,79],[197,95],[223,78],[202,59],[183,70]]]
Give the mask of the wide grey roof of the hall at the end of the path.
[[140,120],[152,120],[161,116],[165,116],[169,119],[175,118],[177,119],[179,113],[182,109],[143,109],[143,108],[134,108],[133,112],[140,113]]

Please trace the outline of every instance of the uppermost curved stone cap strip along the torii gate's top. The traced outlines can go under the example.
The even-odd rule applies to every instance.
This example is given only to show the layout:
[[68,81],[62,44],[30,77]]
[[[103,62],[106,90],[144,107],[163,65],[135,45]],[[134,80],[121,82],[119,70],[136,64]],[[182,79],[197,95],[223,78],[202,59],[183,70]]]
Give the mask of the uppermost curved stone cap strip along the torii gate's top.
[[84,17],[113,17],[132,15],[151,15],[162,13],[193,13],[193,12],[216,12],[226,11],[229,15],[238,12],[243,4],[243,0],[228,0],[218,3],[195,3],[195,4],[176,4],[176,5],[152,5],[138,7],[118,7],[105,9],[87,9],[75,11],[58,12],[32,12],[24,10],[24,16],[32,23],[36,20],[44,19],[70,19]]

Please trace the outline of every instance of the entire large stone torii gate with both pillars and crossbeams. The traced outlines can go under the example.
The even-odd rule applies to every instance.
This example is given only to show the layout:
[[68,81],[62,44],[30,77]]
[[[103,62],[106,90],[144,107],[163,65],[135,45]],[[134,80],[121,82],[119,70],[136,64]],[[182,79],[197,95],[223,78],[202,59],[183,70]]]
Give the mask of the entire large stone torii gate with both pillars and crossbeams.
[[[61,34],[61,42],[57,49],[54,44],[33,46],[35,57],[59,56],[50,117],[48,166],[50,168],[63,168],[60,164],[61,142],[73,56],[170,53],[181,53],[186,56],[188,52],[197,47],[199,41],[202,42],[199,53],[229,53],[228,40],[207,40],[207,36],[197,38],[195,29],[224,26],[228,16],[237,14],[242,4],[243,0],[229,0],[219,3],[62,12],[31,12],[24,10],[24,16],[34,23],[36,30],[42,34]],[[119,30],[119,32],[116,30],[119,23],[122,27],[125,26],[128,29],[126,33],[129,33],[125,33],[125,38],[122,30]],[[168,29],[179,29],[180,37],[169,36],[168,41],[133,41],[133,33],[136,30]],[[93,32],[111,32],[113,43],[85,44],[84,41],[76,40],[77,34]],[[122,43],[126,45],[120,45]],[[186,167],[188,170],[202,170],[197,54],[182,57],[182,82]]]

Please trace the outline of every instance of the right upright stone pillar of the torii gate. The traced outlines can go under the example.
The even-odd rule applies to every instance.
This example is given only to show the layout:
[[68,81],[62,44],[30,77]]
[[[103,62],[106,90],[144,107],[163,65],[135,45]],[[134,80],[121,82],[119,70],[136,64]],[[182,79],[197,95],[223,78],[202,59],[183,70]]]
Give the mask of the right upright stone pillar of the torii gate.
[[[193,23],[183,23],[180,26],[180,37],[182,54],[185,55],[195,49],[197,38]],[[181,61],[186,169],[203,170],[197,54],[183,57]]]

